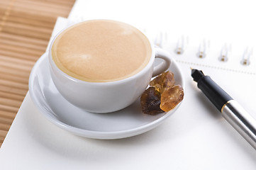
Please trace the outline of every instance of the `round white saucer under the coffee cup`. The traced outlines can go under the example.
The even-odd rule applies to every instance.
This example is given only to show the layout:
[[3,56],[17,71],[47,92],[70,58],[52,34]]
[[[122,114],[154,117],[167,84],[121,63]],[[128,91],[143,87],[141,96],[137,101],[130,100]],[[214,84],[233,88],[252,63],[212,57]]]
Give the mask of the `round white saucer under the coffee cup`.
[[[174,61],[171,71],[174,72],[177,84],[184,88],[182,73]],[[66,101],[55,88],[50,77],[47,53],[40,57],[32,69],[29,91],[35,106],[52,123],[76,135],[94,139],[118,139],[147,132],[169,118],[179,107],[168,113],[145,115],[138,100],[131,106],[113,113],[83,111]]]

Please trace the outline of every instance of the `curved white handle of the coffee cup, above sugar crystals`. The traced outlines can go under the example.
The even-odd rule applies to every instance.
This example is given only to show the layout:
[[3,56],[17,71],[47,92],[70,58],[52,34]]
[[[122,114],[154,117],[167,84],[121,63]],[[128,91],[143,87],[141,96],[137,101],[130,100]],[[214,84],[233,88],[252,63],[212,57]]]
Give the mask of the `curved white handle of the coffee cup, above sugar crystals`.
[[171,55],[169,54],[169,52],[167,52],[166,50],[162,50],[161,48],[155,48],[155,58],[160,58],[164,60],[164,62],[154,67],[152,77],[155,77],[158,74],[165,72],[167,69],[169,69],[169,66],[172,63]]

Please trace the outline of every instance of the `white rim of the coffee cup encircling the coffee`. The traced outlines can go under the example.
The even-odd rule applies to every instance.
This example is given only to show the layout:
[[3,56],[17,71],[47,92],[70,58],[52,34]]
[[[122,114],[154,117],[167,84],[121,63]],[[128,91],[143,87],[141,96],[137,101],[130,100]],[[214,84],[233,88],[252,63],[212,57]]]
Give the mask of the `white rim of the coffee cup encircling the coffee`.
[[133,26],[132,24],[130,23],[126,23],[130,26],[133,26],[133,28],[137,29],[140,31],[140,33],[142,33],[145,38],[147,38],[148,42],[150,43],[150,48],[151,48],[151,56],[150,56],[150,60],[148,61],[148,64],[142,69],[140,70],[140,72],[136,73],[136,74],[133,74],[132,76],[130,77],[126,77],[125,79],[120,79],[120,80],[116,80],[116,81],[106,81],[106,82],[94,82],[94,81],[84,81],[84,80],[81,80],[81,79],[77,79],[77,78],[74,78],[74,77],[71,77],[69,76],[67,73],[65,72],[62,72],[62,70],[57,67],[57,65],[55,64],[55,62],[52,60],[52,45],[53,43],[55,42],[55,39],[65,30],[67,30],[68,28],[72,27],[72,26],[75,26],[79,23],[84,23],[84,22],[87,22],[87,21],[116,21],[116,22],[120,22],[120,23],[125,23],[125,22],[122,22],[122,21],[118,21],[118,20],[111,20],[111,19],[91,19],[91,20],[86,20],[86,21],[82,21],[82,22],[78,22],[78,23],[73,23],[71,24],[70,26],[67,26],[65,28],[63,28],[62,30],[60,30],[59,33],[57,33],[57,35],[54,36],[54,38],[52,38],[52,41],[50,42],[50,47],[49,47],[49,50],[48,50],[48,57],[49,57],[49,62],[50,62],[50,67],[54,67],[54,69],[59,72],[60,74],[63,75],[63,77],[67,78],[67,79],[70,79],[72,81],[76,81],[77,83],[79,84],[93,84],[93,85],[110,85],[110,84],[122,84],[122,83],[125,83],[126,81],[130,81],[130,80],[133,80],[135,79],[136,77],[140,77],[140,75],[143,75],[145,74],[145,72],[148,72],[148,70],[150,69],[150,67],[152,67],[153,65],[153,62],[155,60],[155,47],[152,43],[152,40],[150,40],[150,38],[148,38],[148,35],[145,34],[145,32],[143,30],[141,30],[140,28],[137,28],[136,26]]

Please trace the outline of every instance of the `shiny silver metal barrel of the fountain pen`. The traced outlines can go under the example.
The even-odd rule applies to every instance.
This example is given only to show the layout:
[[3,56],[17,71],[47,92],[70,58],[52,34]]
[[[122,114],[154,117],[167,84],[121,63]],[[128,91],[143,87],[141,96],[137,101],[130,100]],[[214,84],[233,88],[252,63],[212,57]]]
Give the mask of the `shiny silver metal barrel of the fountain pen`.
[[256,149],[256,120],[237,101],[228,101],[221,113],[230,125]]

